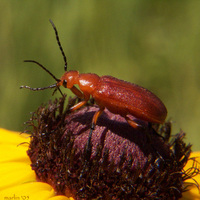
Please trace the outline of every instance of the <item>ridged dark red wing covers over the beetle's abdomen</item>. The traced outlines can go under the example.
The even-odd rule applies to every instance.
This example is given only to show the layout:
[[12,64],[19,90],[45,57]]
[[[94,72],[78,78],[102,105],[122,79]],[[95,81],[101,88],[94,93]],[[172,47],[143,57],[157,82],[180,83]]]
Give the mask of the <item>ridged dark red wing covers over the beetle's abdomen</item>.
[[130,114],[153,123],[163,123],[167,116],[166,107],[152,92],[112,76],[100,77],[93,97],[100,106],[122,116]]

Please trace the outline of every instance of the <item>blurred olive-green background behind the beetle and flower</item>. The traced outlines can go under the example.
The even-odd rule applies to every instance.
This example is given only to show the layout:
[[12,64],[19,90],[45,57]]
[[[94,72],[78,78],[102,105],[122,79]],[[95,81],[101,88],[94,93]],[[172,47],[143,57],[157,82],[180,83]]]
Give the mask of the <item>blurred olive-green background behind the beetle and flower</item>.
[[[69,69],[112,75],[157,94],[174,121],[200,150],[200,1],[0,1],[0,126],[23,131],[23,122],[52,91],[63,58],[49,23],[55,23]],[[63,90],[67,92],[67,90]]]

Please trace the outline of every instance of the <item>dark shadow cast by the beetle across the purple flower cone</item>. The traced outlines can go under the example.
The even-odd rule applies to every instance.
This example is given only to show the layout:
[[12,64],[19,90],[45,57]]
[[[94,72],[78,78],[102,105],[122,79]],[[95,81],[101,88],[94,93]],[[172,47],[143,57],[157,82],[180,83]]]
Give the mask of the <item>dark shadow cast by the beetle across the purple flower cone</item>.
[[[81,135],[88,131],[91,126],[92,118],[96,111],[90,111],[89,109],[83,112],[83,114],[73,117],[71,120],[82,124],[82,128],[77,132],[77,135]],[[97,120],[97,125],[104,127],[105,129],[101,132],[100,142],[104,146],[105,138],[110,131],[111,133],[117,134],[124,139],[130,140],[135,143],[145,156],[148,156],[150,152],[155,152],[156,156],[159,154],[163,158],[168,157],[166,153],[166,145],[164,141],[153,128],[149,128],[147,123],[142,120],[135,119],[137,123],[141,124],[143,128],[133,128],[128,124],[125,118],[120,115],[113,115],[110,117],[110,112],[103,112],[102,115]],[[97,128],[97,127],[96,127]],[[155,134],[156,133],[156,134]],[[151,150],[153,148],[153,151]]]

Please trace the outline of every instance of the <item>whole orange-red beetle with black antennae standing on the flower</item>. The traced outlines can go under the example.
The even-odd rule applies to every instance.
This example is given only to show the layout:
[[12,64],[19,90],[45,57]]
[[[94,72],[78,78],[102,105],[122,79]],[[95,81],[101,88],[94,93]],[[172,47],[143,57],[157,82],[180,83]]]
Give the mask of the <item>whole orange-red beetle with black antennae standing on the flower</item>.
[[[167,109],[162,101],[149,90],[112,76],[99,77],[97,74],[92,73],[79,74],[75,70],[67,71],[67,59],[61,46],[57,29],[51,20],[50,23],[55,31],[56,40],[64,58],[65,73],[58,79],[40,63],[34,60],[25,60],[25,62],[32,62],[40,66],[54,78],[56,83],[43,88],[31,88],[29,86],[21,86],[20,88],[27,88],[33,91],[55,88],[54,92],[56,90],[61,92],[60,86],[68,88],[77,97],[82,99],[82,101],[72,106],[70,111],[84,106],[90,99],[90,96],[92,96],[99,106],[99,110],[93,116],[89,140],[91,140],[92,131],[105,108],[114,114],[124,117],[133,128],[138,128],[141,125],[132,120],[129,115],[147,122],[164,123]],[[78,85],[79,89],[75,85]]]

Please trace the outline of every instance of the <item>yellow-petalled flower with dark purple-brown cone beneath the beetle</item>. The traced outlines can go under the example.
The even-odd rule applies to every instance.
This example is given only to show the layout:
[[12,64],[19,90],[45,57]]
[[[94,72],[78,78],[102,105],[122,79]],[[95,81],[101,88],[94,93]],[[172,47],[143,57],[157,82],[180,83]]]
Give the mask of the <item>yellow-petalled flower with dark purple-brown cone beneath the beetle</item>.
[[64,98],[40,106],[27,122],[30,141],[27,134],[2,133],[0,197],[179,199],[193,187],[186,181],[199,175],[198,162],[191,159],[188,166],[191,145],[183,142],[183,132],[169,141],[169,122],[134,130],[122,117],[105,111],[86,145],[97,107],[71,114],[65,107]]

